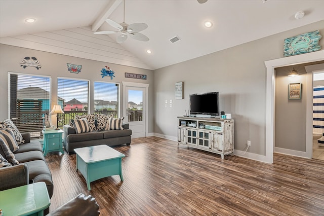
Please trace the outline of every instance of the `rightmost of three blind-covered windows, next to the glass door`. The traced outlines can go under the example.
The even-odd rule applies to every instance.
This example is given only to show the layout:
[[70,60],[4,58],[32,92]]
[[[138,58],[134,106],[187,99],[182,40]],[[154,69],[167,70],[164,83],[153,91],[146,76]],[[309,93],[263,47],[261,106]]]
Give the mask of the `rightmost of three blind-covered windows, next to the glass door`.
[[119,84],[94,82],[94,109],[95,113],[113,114],[118,117]]

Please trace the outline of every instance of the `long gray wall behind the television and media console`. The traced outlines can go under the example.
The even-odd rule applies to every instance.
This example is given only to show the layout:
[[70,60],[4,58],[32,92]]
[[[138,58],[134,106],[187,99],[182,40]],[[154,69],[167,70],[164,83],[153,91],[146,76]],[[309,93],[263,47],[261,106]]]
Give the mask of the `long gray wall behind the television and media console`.
[[[264,61],[284,57],[286,38],[314,30],[324,35],[324,21],[155,70],[154,132],[176,138],[177,116],[189,109],[189,94],[219,91],[220,110],[234,118],[235,150],[244,150],[251,140],[248,151],[265,155]],[[324,46],[323,39],[320,45]],[[175,83],[179,81],[184,82],[184,99],[175,100]],[[174,101],[173,107],[165,107],[166,99]]]

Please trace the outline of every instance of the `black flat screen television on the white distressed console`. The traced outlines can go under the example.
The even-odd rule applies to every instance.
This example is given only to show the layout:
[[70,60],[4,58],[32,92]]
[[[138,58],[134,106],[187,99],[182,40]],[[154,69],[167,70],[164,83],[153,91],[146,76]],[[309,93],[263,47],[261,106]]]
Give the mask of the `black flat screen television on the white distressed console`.
[[201,117],[219,116],[219,92],[190,94],[190,115]]

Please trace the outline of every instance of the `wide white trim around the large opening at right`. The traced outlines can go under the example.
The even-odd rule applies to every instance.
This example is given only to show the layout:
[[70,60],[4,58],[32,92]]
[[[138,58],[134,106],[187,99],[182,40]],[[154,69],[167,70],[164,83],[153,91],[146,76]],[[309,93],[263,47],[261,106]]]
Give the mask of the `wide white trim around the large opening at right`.
[[[289,66],[295,64],[302,64],[307,62],[324,60],[324,50],[311,52],[301,55],[295,55],[285,58],[278,58],[265,61],[267,67],[266,75],[266,153],[265,162],[273,163],[274,151],[274,125],[275,125],[275,67]],[[306,114],[307,115],[307,114]],[[306,116],[306,140],[309,137],[309,116]],[[312,123],[311,123],[312,124]],[[306,151],[307,151],[306,146]]]

